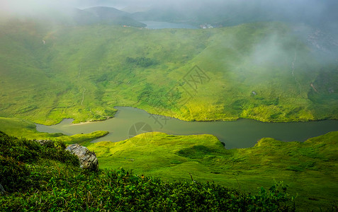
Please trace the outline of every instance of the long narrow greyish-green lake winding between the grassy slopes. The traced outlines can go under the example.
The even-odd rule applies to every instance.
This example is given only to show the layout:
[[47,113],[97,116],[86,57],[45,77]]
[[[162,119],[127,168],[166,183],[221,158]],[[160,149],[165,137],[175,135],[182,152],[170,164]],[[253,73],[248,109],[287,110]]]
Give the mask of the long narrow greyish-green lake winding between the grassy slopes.
[[[280,141],[305,141],[329,131],[338,131],[338,121],[335,120],[288,123],[264,123],[251,119],[240,119],[236,122],[184,122],[179,119],[152,116],[144,110],[132,107],[116,107],[116,109],[118,109],[116,117],[106,121],[72,124],[72,119],[64,119],[60,124],[52,126],[36,124],[36,128],[38,131],[62,132],[67,135],[86,134],[98,130],[110,131],[110,134],[96,139],[95,142],[122,141],[145,131],[162,131],[174,135],[213,134],[225,143],[226,148],[252,147],[264,137]],[[158,122],[155,122],[155,118]]]

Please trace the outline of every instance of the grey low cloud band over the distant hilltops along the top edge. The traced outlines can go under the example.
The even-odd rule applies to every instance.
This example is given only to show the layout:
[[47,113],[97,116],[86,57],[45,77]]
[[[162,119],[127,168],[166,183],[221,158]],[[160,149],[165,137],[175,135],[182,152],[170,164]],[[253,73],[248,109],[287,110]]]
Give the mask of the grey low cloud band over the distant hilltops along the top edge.
[[[36,15],[40,11],[46,11],[47,8],[88,8],[92,6],[111,6],[119,9],[128,6],[147,6],[179,11],[187,17],[198,13],[198,16],[202,18],[215,16],[220,19],[229,18],[227,14],[231,15],[231,13],[254,12],[253,16],[271,16],[275,19],[338,28],[337,0],[4,0],[0,1],[0,13],[25,16]],[[225,12],[222,13],[222,11]]]

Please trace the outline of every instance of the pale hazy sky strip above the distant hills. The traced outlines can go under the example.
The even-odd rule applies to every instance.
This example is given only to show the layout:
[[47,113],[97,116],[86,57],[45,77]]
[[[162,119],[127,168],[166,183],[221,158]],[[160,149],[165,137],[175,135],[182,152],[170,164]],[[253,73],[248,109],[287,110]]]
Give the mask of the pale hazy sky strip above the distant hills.
[[[259,7],[273,13],[282,13],[291,18],[338,22],[338,0],[0,0],[0,12],[25,15],[38,13],[45,8],[89,8],[111,6],[122,9],[128,6],[152,6],[153,8],[175,8],[179,11],[210,11],[227,8],[236,4],[237,8]],[[273,9],[271,9],[273,8]],[[335,15],[332,15],[335,14]],[[324,17],[324,18],[323,18]],[[328,18],[325,18],[328,17]],[[336,18],[337,20],[332,20]]]

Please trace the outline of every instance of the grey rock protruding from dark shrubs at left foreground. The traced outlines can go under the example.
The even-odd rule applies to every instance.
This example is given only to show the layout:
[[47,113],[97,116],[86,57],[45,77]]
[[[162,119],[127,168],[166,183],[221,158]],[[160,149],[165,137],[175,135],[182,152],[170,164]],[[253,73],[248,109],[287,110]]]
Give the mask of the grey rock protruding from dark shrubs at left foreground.
[[66,151],[70,151],[74,155],[77,155],[81,168],[98,170],[98,160],[96,158],[96,154],[89,151],[88,148],[84,146],[79,146],[79,144],[76,143],[67,146]]

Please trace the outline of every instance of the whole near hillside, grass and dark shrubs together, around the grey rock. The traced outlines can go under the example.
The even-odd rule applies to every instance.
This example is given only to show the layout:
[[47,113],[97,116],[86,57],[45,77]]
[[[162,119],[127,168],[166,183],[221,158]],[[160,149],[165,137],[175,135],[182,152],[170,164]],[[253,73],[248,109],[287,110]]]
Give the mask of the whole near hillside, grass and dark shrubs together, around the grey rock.
[[2,206],[122,211],[148,206],[230,211],[283,211],[293,204],[298,211],[337,207],[338,132],[304,143],[261,139],[253,148],[232,150],[210,135],[153,133],[150,141],[141,134],[118,143],[66,140],[84,141],[95,151],[99,172],[81,171],[62,151],[66,144],[60,138],[50,137],[52,146],[40,146],[1,133],[0,184],[9,192],[1,196]]

